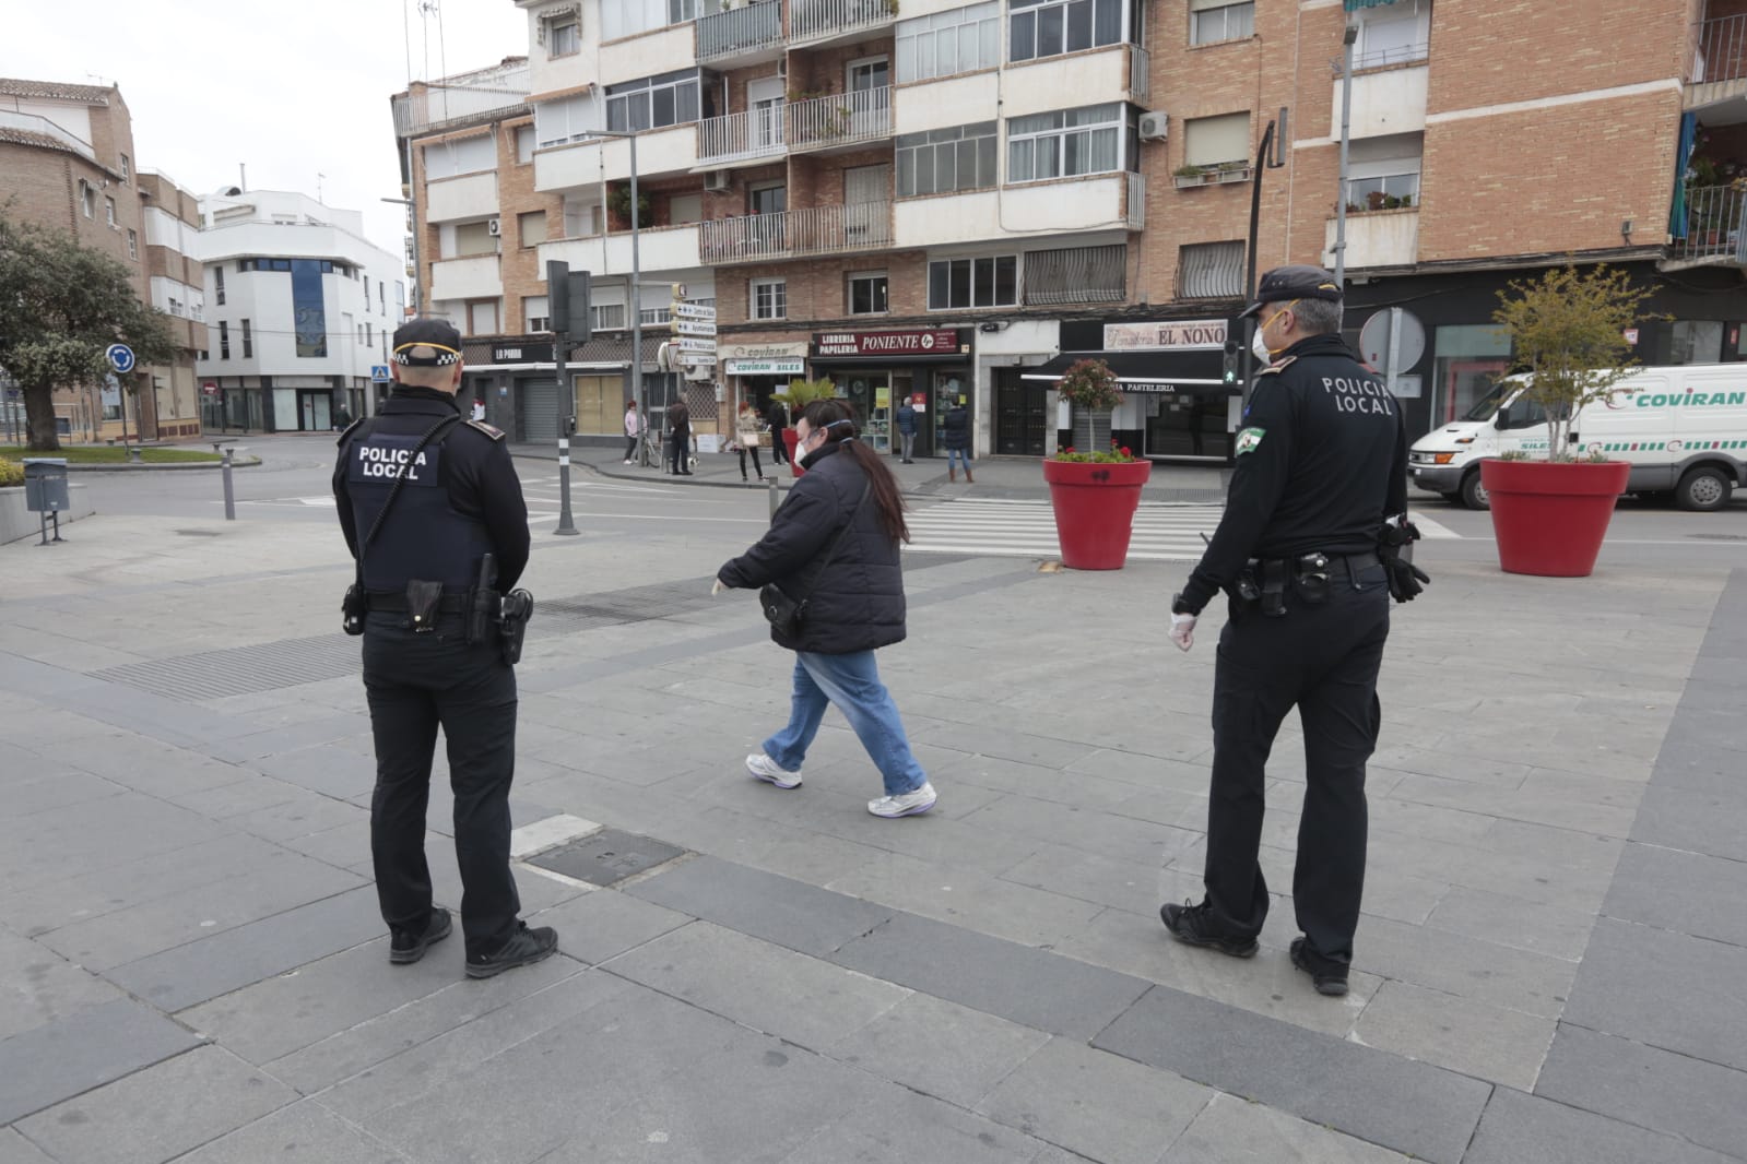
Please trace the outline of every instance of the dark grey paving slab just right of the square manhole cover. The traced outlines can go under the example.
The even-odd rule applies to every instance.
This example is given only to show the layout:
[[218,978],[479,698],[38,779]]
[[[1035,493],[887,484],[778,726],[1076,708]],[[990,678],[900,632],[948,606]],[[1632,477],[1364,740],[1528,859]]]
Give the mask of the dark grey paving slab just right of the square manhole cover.
[[814,956],[839,949],[891,916],[891,909],[860,897],[716,857],[666,869],[625,894]]

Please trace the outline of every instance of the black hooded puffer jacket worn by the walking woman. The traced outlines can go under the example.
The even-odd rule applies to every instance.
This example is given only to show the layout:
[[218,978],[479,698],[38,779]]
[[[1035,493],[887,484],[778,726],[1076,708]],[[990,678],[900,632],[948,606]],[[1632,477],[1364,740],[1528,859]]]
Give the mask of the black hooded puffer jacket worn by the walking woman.
[[[790,651],[851,654],[903,642],[898,543],[880,527],[874,494],[861,501],[867,475],[835,443],[814,452],[805,468],[776,511],[770,532],[716,571],[716,578],[742,590],[776,583],[783,593],[807,599],[798,640],[770,630],[770,639]],[[823,562],[851,513],[854,525],[832,560]]]

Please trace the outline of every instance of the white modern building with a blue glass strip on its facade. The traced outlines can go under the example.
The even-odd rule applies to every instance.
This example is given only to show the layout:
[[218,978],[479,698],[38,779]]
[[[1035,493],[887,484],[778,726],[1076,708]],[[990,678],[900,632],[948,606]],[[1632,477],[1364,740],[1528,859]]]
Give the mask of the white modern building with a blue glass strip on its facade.
[[208,424],[327,431],[341,407],[370,415],[405,318],[400,257],[363,237],[363,215],[304,194],[229,188],[201,199],[192,241],[206,267]]

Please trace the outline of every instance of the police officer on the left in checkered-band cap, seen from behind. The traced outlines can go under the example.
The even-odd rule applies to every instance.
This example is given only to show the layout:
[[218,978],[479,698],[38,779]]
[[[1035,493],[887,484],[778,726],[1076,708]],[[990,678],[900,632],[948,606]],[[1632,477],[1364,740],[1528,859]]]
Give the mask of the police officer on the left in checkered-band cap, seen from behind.
[[[370,853],[390,928],[390,962],[411,963],[449,935],[432,904],[425,808],[442,726],[454,789],[461,930],[468,977],[491,977],[557,949],[550,928],[517,920],[510,873],[515,670],[494,623],[470,620],[528,565],[528,506],[503,433],[456,403],[461,337],[440,319],[395,332],[395,393],[339,438],[334,497],[358,560],[363,686],[376,735]],[[494,562],[496,578],[491,565]],[[484,576],[482,576],[482,565]]]

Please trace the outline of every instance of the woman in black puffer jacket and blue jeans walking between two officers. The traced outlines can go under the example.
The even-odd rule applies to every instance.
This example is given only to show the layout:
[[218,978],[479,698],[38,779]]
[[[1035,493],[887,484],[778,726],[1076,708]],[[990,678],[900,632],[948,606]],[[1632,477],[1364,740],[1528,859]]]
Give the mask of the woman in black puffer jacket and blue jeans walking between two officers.
[[800,764],[835,703],[886,782],[868,801],[875,817],[915,817],[935,806],[935,787],[910,752],[898,707],[879,681],[874,651],[903,642],[903,567],[910,539],[898,482],[879,454],[856,440],[856,422],[835,400],[816,400],[795,422],[795,457],[807,473],[776,511],[770,532],[723,565],[723,586],[776,585],[805,616],[795,635],[772,627],[795,653],[788,726],[746,757],[746,770],[779,789],[800,787]]

